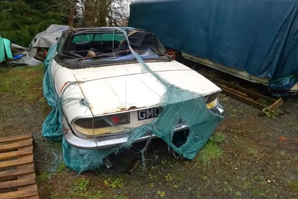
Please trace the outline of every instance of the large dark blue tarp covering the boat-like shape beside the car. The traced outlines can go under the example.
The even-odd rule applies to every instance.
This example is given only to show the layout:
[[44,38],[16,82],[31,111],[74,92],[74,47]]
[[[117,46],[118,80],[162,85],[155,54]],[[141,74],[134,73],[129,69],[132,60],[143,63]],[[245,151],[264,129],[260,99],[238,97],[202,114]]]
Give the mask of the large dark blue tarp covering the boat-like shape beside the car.
[[296,84],[297,8],[297,0],[139,0],[130,4],[128,26],[156,34],[165,46],[269,78],[274,93]]

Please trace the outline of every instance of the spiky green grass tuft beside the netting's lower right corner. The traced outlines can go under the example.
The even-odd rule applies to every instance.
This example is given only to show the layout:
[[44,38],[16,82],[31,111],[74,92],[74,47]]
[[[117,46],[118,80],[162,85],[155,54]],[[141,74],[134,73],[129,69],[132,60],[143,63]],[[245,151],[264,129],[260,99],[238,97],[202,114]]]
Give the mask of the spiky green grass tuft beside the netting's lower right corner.
[[204,166],[210,166],[213,161],[222,159],[223,155],[224,151],[216,143],[208,141],[198,153],[198,160]]

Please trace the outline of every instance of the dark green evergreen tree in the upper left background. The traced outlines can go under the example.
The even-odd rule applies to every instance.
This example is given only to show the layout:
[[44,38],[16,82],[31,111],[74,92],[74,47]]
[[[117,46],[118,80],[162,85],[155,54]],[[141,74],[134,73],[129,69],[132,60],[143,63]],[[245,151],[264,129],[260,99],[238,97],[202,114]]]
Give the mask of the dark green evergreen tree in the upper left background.
[[0,34],[11,43],[27,47],[34,35],[44,31],[51,24],[67,24],[65,16],[67,13],[63,7],[54,5],[51,0],[1,1]]

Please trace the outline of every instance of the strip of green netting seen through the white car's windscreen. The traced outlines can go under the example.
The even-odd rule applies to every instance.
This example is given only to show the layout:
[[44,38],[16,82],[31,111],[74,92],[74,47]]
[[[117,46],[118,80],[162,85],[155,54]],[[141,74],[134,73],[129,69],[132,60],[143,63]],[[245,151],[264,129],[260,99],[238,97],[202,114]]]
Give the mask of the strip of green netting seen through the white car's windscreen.
[[103,34],[84,34],[76,35],[72,40],[72,43],[76,42],[96,42],[96,41],[118,41],[121,42],[124,39],[123,34],[103,33]]

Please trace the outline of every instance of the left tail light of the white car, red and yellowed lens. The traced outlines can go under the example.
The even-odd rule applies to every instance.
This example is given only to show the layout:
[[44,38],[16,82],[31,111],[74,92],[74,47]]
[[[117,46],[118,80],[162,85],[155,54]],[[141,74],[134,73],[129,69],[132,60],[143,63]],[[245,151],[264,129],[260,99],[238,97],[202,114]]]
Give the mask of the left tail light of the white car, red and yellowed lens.
[[[109,118],[111,122],[107,122],[102,118],[92,118],[88,119],[79,119],[73,122],[73,127],[79,133],[93,136],[93,135],[102,135],[106,133],[118,133],[124,131],[122,125],[130,124],[129,113],[113,115]],[[115,125],[111,125],[114,123]]]

